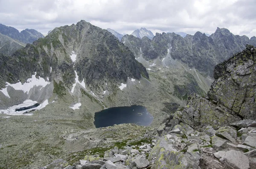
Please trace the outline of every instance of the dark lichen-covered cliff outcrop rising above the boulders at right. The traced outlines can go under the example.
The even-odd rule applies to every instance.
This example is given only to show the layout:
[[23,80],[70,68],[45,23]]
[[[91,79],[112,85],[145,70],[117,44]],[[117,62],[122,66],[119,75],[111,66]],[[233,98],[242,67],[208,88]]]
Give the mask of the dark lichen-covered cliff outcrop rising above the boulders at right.
[[255,52],[253,46],[247,45],[244,51],[216,65],[208,98],[189,96],[187,107],[176,112],[178,121],[201,130],[207,125],[220,127],[241,119],[255,120]]

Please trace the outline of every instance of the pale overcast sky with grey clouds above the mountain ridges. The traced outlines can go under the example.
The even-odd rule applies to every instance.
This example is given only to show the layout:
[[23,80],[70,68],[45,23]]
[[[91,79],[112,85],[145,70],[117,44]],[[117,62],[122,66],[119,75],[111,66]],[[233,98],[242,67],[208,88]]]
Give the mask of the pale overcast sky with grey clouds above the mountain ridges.
[[0,0],[0,23],[43,34],[85,20],[127,34],[141,27],[212,34],[219,27],[252,37],[255,7],[256,0]]

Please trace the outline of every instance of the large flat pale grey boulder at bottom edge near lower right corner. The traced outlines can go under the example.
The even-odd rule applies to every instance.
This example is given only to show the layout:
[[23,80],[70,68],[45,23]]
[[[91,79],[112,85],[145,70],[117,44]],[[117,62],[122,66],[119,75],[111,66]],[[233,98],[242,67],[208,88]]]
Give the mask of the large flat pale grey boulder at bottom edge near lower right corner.
[[230,150],[228,152],[219,151],[215,152],[214,156],[218,158],[221,163],[224,163],[230,168],[234,169],[249,169],[250,162],[246,155],[236,150]]

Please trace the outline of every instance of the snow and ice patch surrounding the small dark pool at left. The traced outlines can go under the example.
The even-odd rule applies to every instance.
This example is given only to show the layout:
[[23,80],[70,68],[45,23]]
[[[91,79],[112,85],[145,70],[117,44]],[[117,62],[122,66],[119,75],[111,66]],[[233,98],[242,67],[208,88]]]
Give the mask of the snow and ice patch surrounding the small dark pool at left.
[[[47,106],[48,100],[45,100],[38,107],[34,107],[31,109],[22,110],[22,111],[15,111],[15,109],[19,109],[21,107],[33,106],[36,103],[37,103],[37,101],[25,100],[25,101],[23,101],[22,104],[14,105],[12,107],[7,108],[6,110],[0,110],[0,113],[7,114],[7,115],[32,115],[32,113],[27,113],[27,112],[30,112],[31,110],[41,110],[42,108]],[[26,114],[23,114],[23,113],[26,113]]]

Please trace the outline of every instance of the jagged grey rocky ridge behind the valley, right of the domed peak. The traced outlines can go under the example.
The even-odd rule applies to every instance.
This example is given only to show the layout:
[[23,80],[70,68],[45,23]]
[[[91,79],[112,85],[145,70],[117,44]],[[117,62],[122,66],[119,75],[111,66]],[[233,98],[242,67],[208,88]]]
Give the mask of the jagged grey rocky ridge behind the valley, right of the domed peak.
[[125,35],[121,42],[128,46],[136,57],[142,55],[148,61],[163,59],[166,54],[170,54],[173,59],[213,77],[215,65],[241,52],[245,45],[255,45],[256,37],[249,39],[246,36],[233,35],[225,28],[217,28],[209,37],[201,32],[196,32],[195,35],[187,34],[184,38],[175,33],[157,33],[152,40]]

